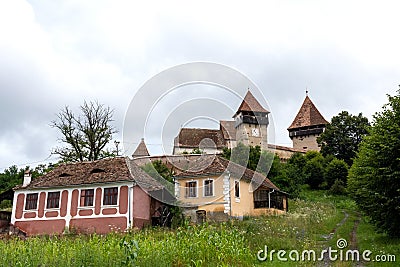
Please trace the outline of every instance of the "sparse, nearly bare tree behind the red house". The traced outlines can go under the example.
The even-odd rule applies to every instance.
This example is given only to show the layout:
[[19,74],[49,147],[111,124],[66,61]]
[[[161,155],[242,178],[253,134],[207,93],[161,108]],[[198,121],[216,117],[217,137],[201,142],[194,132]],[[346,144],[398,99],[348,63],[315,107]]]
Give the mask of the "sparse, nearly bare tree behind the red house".
[[66,147],[56,148],[62,161],[93,161],[110,155],[105,146],[116,133],[111,125],[113,110],[97,102],[86,101],[80,107],[81,115],[77,116],[68,106],[58,115],[51,126],[60,130],[62,142]]

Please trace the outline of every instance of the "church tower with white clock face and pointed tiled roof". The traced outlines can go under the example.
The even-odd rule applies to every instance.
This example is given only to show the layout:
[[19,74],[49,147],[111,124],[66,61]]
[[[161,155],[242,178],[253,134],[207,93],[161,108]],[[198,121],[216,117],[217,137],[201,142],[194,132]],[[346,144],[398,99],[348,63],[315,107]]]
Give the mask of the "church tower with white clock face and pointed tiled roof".
[[242,104],[233,118],[235,119],[236,141],[247,146],[260,146],[268,149],[268,114],[250,90],[247,91]]

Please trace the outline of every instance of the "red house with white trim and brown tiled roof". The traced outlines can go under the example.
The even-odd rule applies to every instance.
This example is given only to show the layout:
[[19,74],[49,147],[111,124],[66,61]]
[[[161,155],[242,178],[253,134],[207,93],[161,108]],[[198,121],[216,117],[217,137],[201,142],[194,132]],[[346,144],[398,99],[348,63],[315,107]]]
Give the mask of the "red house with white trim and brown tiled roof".
[[63,164],[32,181],[26,174],[11,225],[27,235],[141,228],[158,216],[162,201],[153,195],[163,190],[128,158]]

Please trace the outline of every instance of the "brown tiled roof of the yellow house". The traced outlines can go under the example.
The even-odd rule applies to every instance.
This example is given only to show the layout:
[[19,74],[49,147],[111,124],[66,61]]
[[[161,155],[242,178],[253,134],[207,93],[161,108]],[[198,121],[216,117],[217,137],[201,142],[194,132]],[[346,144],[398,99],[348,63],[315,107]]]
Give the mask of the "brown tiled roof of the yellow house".
[[200,159],[197,158],[189,169],[179,173],[175,177],[207,176],[222,174],[227,171],[235,178],[244,179],[247,182],[279,190],[276,185],[261,173],[216,155],[204,155]]

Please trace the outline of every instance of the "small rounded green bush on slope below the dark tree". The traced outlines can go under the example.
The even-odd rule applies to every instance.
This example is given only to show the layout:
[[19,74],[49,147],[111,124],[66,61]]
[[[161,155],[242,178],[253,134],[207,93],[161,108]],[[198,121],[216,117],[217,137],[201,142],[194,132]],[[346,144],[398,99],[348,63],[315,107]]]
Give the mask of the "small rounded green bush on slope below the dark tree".
[[327,188],[331,188],[336,182],[336,186],[341,184],[342,186],[347,183],[348,166],[344,160],[333,159],[325,168],[325,182]]

